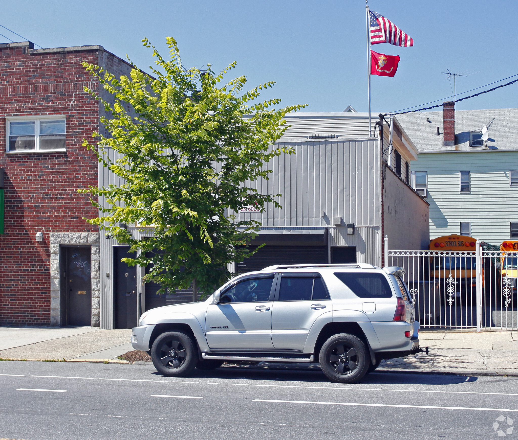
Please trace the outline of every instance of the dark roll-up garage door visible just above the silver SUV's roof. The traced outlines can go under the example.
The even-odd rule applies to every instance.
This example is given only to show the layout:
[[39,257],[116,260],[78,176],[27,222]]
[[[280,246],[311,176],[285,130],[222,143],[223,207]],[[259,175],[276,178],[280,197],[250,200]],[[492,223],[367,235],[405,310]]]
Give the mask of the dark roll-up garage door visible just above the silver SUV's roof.
[[[250,246],[255,249],[256,246]],[[261,270],[273,265],[327,263],[327,246],[264,246],[238,263],[238,272]]]

